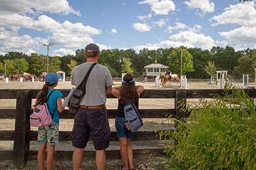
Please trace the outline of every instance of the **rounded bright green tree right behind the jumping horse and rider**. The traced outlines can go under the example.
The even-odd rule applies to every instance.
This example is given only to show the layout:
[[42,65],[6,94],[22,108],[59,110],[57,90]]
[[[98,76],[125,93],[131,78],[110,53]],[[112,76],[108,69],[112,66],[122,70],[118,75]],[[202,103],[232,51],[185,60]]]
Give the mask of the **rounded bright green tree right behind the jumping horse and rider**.
[[[187,50],[182,50],[182,73],[193,72],[193,57]],[[167,57],[167,66],[174,74],[181,73],[181,50],[173,50]]]

